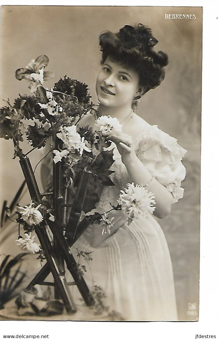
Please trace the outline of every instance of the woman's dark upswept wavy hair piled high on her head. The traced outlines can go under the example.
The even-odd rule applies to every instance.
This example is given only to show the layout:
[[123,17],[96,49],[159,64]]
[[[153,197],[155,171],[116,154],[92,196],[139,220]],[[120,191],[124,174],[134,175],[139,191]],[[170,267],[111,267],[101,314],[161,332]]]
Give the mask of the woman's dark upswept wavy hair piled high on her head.
[[112,61],[133,69],[139,75],[139,85],[146,87],[146,93],[160,85],[165,77],[164,66],[168,64],[165,52],[154,51],[157,43],[151,28],[141,23],[125,25],[118,33],[104,32],[100,35],[101,64],[109,56]]

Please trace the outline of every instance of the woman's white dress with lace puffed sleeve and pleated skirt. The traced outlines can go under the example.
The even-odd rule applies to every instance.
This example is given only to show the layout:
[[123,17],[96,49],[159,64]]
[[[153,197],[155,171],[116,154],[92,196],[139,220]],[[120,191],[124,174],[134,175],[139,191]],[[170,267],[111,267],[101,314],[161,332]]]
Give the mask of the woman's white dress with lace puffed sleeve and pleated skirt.
[[[111,175],[115,186],[104,187],[93,212],[109,211],[109,202],[117,205],[120,190],[130,181],[114,144],[113,147],[115,162],[110,169],[115,171]],[[182,198],[180,184],[185,168],[181,160],[186,151],[176,139],[156,125],[148,125],[135,140],[135,152],[152,176],[172,193],[174,202]],[[171,258],[160,225],[152,215],[139,217],[130,225],[120,211],[114,211],[112,216],[117,231],[100,245],[96,240],[102,237],[101,225],[89,226],[74,244],[81,251],[92,252],[93,260],[84,275],[90,289],[94,283],[101,286],[106,294],[105,304],[125,320],[177,320]]]

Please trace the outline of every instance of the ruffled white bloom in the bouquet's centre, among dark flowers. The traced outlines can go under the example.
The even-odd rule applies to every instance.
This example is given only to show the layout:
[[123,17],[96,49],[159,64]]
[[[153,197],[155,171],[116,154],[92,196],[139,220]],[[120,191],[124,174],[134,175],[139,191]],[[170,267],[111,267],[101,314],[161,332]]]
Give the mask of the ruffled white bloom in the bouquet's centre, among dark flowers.
[[91,152],[91,149],[88,148],[88,143],[84,140],[84,137],[81,138],[75,125],[68,127],[61,126],[60,133],[57,134],[57,137],[64,142],[64,145],[71,152],[72,149],[79,151],[80,155],[82,155],[84,150]]

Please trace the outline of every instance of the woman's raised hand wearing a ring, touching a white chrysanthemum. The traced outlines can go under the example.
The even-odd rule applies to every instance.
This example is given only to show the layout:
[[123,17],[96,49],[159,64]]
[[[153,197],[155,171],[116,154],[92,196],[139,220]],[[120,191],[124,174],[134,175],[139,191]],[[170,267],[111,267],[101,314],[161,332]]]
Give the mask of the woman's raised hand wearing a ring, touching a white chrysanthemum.
[[131,161],[133,157],[136,157],[133,147],[133,140],[130,135],[123,132],[110,134],[106,140],[111,140],[116,144],[124,164]]

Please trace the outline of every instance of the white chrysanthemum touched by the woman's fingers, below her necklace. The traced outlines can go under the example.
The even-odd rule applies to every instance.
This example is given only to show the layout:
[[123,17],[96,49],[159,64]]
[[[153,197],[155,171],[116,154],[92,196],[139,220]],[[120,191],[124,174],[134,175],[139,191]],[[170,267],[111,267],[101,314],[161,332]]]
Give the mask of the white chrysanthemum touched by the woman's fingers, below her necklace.
[[119,123],[117,118],[112,118],[110,115],[102,115],[96,120],[96,130],[102,134],[104,137],[107,137],[111,133],[122,132],[122,126]]

